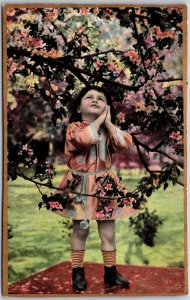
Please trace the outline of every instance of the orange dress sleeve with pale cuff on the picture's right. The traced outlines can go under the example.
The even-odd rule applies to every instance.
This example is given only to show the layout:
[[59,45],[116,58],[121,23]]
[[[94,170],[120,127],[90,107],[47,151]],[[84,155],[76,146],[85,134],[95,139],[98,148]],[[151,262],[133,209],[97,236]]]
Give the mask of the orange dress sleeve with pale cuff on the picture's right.
[[116,138],[110,136],[110,143],[115,152],[124,153],[133,144],[132,136],[115,126]]

